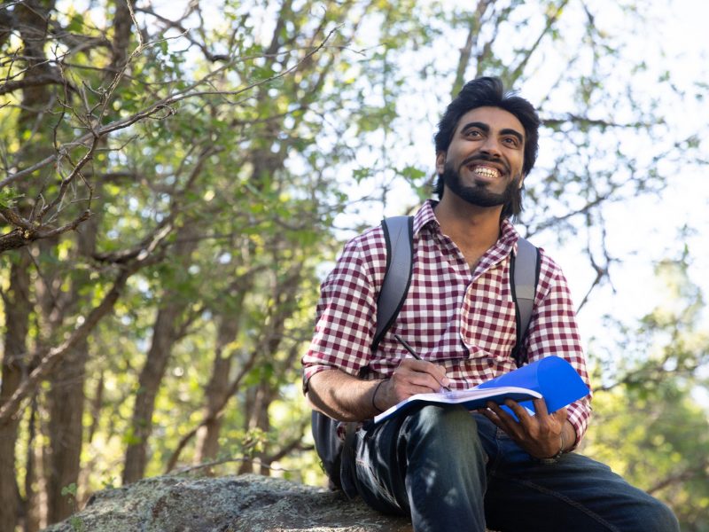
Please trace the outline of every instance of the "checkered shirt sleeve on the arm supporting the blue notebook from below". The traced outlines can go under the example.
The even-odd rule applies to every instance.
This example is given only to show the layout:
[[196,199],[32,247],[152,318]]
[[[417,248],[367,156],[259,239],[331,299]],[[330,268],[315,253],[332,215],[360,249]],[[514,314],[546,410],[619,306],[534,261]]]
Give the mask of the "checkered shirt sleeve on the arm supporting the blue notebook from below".
[[[561,269],[540,249],[541,267],[534,312],[526,335],[525,348],[529,362],[544,356],[564,358],[590,388],[586,356],[581,348],[576,312],[566,279]],[[591,418],[590,395],[566,407],[568,419],[576,431],[576,445],[586,434]]]

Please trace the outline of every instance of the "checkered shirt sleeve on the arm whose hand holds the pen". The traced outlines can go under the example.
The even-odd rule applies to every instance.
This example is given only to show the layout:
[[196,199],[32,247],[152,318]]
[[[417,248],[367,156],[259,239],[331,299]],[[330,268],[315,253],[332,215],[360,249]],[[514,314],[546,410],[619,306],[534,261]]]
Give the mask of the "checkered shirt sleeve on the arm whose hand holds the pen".
[[370,362],[377,312],[374,274],[386,269],[386,247],[382,254],[369,246],[371,233],[347,243],[321,285],[316,331],[301,360],[304,391],[317,372],[338,369],[357,375]]

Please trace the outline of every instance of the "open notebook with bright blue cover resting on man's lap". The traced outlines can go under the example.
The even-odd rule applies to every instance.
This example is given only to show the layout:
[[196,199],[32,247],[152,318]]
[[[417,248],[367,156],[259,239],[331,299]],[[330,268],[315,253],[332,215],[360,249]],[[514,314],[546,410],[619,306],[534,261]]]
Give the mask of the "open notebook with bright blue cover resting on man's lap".
[[376,416],[374,422],[399,415],[419,403],[462,404],[472,411],[485,408],[489,401],[502,404],[512,399],[534,412],[533,400],[543,397],[552,413],[588,393],[588,387],[571,364],[558,356],[547,356],[467,390],[411,395]]

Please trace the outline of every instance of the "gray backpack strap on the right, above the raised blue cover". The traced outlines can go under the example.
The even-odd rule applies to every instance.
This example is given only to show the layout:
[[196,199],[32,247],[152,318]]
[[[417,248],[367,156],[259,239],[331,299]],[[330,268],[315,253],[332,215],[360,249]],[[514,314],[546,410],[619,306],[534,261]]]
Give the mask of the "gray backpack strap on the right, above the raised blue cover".
[[517,254],[512,255],[510,262],[510,286],[517,313],[517,341],[512,356],[518,366],[525,362],[521,355],[522,340],[532,318],[539,268],[539,250],[529,240],[520,237],[517,241]]

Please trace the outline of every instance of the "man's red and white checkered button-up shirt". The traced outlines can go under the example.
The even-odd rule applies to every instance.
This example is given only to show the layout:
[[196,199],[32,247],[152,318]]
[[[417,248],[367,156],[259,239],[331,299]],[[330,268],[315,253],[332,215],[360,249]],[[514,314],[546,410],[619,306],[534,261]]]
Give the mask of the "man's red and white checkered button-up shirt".
[[[376,352],[370,346],[386,271],[384,233],[379,226],[347,243],[321,286],[315,336],[302,358],[304,389],[310,377],[323,370],[359,375],[368,368],[368,378],[390,376],[407,356],[394,334],[406,339],[421,358],[445,366],[453,389],[473,387],[517,368],[510,355],[517,324],[509,279],[518,232],[504,220],[500,239],[471,271],[458,247],[440,231],[434,206],[429,200],[414,216],[409,293]],[[526,359],[565,358],[588,385],[566,280],[542,249],[540,256],[534,311],[522,346]],[[567,407],[577,442],[586,432],[590,411],[588,397]]]

